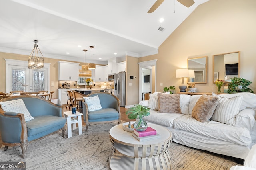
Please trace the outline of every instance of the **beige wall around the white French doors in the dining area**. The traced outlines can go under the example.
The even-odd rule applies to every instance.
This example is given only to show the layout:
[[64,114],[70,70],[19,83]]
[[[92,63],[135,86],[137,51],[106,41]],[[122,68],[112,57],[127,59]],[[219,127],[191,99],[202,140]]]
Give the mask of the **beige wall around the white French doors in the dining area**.
[[[19,55],[13,53],[0,52],[0,92],[5,92],[6,62],[4,59],[25,60],[28,61],[28,55]],[[59,59],[44,58],[44,63],[50,63],[50,82],[54,82],[54,87],[50,86],[49,91],[54,91],[53,98],[58,96],[58,61]],[[63,60],[66,61],[66,60]],[[75,62],[75,61],[72,61]],[[79,62],[76,62],[79,63]],[[82,63],[83,64],[83,63]]]

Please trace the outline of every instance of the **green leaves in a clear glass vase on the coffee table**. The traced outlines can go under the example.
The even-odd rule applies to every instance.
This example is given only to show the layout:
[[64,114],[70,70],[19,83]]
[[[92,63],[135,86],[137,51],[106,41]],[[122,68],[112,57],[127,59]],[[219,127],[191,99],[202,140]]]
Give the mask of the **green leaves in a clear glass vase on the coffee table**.
[[143,116],[150,115],[150,108],[148,108],[147,106],[136,104],[133,107],[129,108],[125,113],[126,115],[128,115],[128,119],[138,118],[138,120],[133,124],[134,129],[136,129],[137,131],[146,131],[148,125],[146,121],[143,120]]

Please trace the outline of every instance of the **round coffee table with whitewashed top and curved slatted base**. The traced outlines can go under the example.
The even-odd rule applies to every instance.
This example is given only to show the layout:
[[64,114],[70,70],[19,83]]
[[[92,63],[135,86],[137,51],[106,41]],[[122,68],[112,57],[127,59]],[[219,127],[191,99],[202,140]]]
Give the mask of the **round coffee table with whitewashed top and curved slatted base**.
[[171,170],[172,162],[168,148],[172,141],[172,133],[159,125],[148,123],[161,135],[159,139],[140,142],[132,136],[133,132],[122,129],[122,124],[109,131],[113,145],[109,156],[112,170]]

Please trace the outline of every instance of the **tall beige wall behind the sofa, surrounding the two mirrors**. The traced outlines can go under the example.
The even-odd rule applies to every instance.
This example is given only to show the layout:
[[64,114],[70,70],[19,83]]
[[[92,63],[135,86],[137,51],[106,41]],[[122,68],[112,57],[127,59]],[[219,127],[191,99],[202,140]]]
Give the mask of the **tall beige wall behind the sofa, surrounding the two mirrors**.
[[[157,91],[181,83],[175,70],[187,68],[187,59],[208,56],[208,80],[196,84],[198,92],[217,92],[212,83],[212,55],[241,51],[240,77],[252,81],[256,92],[256,1],[210,0],[194,12],[160,45],[159,53],[139,58],[139,62],[157,60]],[[160,82],[163,86],[160,86]]]

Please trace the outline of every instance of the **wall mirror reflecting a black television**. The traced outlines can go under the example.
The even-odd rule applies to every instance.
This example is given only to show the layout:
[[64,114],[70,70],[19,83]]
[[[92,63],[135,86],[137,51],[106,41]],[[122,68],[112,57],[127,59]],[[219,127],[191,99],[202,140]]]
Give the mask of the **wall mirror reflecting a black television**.
[[240,76],[240,51],[213,55],[213,83]]

